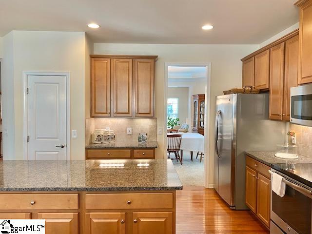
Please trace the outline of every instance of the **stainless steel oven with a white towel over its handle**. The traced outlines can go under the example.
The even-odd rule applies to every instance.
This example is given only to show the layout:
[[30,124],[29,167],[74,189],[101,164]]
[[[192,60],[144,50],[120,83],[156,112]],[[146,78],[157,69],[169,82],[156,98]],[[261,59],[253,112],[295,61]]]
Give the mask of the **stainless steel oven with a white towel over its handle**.
[[271,190],[273,223],[271,221],[270,234],[312,234],[312,188],[273,169],[271,171],[284,177],[286,192],[280,197]]

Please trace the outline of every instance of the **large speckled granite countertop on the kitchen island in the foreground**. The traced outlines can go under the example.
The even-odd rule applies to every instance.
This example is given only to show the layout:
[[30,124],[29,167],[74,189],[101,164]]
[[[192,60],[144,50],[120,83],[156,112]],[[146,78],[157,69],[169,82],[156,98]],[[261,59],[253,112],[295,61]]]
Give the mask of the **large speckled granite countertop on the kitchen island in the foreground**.
[[0,161],[0,191],[181,189],[170,159]]

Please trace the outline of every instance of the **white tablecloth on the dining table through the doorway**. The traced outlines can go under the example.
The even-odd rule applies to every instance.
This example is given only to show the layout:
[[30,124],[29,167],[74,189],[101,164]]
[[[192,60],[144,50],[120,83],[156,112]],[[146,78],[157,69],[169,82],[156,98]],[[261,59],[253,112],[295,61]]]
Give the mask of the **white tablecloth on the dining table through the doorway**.
[[[204,152],[204,136],[199,133],[174,133],[182,134],[181,150]],[[170,134],[168,134],[170,135]]]

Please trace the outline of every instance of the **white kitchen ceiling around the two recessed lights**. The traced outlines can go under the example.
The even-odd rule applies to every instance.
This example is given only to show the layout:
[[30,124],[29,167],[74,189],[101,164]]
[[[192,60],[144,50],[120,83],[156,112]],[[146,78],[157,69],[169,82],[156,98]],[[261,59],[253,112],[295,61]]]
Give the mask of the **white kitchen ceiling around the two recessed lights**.
[[[298,21],[295,0],[0,0],[12,30],[85,31],[94,42],[259,44]],[[97,22],[101,28],[89,29]],[[211,31],[201,26],[213,24]]]

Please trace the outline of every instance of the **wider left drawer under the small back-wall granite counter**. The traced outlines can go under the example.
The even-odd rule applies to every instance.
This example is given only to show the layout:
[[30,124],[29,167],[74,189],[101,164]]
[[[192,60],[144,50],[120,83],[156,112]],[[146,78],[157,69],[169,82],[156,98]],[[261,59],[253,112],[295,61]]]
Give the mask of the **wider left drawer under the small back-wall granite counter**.
[[130,149],[100,149],[100,150],[87,150],[87,158],[130,158]]

